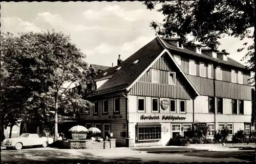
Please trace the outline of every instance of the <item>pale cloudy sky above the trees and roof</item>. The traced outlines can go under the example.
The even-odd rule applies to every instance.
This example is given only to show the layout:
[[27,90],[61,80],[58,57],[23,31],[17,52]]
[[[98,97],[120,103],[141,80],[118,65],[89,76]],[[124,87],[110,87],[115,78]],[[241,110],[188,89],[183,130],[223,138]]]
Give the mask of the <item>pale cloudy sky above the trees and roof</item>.
[[[153,20],[161,22],[163,16],[147,10],[142,2],[1,2],[2,33],[54,29],[70,34],[86,54],[86,62],[104,66],[116,66],[118,54],[125,60],[153,40]],[[230,58],[241,62],[246,51],[237,49],[244,42],[225,37],[218,49],[226,49]]]

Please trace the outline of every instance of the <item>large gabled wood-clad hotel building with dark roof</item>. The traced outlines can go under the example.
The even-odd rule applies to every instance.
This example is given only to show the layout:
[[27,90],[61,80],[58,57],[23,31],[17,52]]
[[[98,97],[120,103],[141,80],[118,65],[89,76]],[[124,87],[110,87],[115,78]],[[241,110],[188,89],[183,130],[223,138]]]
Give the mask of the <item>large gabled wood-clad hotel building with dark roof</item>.
[[194,122],[210,126],[208,137],[225,127],[250,132],[250,72],[228,55],[157,37],[95,78],[94,105],[81,118],[120,146],[166,145]]

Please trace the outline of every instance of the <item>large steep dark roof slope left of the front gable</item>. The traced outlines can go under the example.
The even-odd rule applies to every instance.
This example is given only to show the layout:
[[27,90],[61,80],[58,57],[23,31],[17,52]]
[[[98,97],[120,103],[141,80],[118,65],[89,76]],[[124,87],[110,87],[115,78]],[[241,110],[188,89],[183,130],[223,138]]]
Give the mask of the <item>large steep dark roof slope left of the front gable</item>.
[[[95,77],[96,80],[112,74],[112,77],[90,96],[128,88],[163,50],[164,48],[161,46],[159,41],[156,38],[153,39],[151,42],[147,43],[135,52],[131,57],[123,61],[120,65],[111,67]],[[136,64],[133,64],[136,60],[139,61]],[[116,70],[118,67],[121,68]],[[105,72],[107,73],[103,75]]]

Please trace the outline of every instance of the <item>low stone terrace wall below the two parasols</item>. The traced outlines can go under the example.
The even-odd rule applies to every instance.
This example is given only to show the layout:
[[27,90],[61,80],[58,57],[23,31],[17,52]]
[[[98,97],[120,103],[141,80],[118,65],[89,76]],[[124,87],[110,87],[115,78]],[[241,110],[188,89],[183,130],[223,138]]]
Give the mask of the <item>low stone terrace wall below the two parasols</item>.
[[113,149],[116,148],[116,139],[108,141],[92,141],[92,140],[68,140],[70,149]]

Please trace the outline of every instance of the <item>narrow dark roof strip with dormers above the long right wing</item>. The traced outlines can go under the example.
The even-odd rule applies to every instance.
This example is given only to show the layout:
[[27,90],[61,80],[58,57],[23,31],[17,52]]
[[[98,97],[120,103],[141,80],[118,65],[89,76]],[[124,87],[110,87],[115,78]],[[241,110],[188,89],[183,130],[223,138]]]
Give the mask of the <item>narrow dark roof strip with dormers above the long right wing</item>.
[[172,43],[169,43],[167,42],[167,39],[161,39],[161,41],[164,43],[164,45],[166,45],[166,48],[168,48],[170,50],[170,52],[172,51],[179,51],[179,52],[184,52],[186,53],[186,55],[191,55],[191,56],[195,56],[195,57],[200,57],[200,58],[204,58],[204,59],[208,59],[208,60],[211,60],[211,61],[215,61],[215,62],[218,62],[218,63],[222,63],[222,64],[225,64],[225,65],[229,65],[229,66],[234,66],[234,67],[238,67],[238,68],[243,68],[243,69],[246,69],[246,66],[231,59],[231,58],[228,58],[227,57],[227,61],[223,61],[222,59],[219,59],[219,58],[213,58],[211,56],[209,56],[208,54],[206,53],[197,53],[185,46],[183,46],[183,48],[179,48],[175,45],[173,45]]

